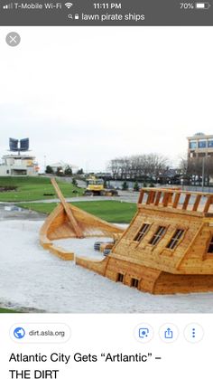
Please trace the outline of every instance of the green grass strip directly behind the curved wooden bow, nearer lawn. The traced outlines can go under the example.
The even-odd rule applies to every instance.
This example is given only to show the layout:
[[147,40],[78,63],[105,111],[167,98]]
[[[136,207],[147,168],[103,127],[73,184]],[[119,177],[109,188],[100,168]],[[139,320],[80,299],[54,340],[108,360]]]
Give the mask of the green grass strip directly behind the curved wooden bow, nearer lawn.
[[[20,204],[23,208],[32,209],[41,213],[51,213],[57,204]],[[73,205],[80,209],[92,213],[97,217],[106,220],[108,223],[130,223],[136,212],[136,204],[121,203],[119,201],[94,201],[94,202],[76,202]]]

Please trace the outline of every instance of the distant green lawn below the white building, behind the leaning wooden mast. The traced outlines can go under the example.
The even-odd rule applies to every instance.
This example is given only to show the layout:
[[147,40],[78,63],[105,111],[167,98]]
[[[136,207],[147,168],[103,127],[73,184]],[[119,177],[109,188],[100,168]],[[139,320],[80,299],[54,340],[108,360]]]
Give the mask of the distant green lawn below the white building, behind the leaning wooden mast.
[[[59,185],[65,197],[83,194],[81,188],[77,188],[69,183],[59,182]],[[17,189],[9,192],[0,192],[0,202],[28,202],[57,197],[51,185],[51,179],[48,177],[0,177],[1,186],[17,186]],[[73,190],[77,190],[78,194],[74,194]]]

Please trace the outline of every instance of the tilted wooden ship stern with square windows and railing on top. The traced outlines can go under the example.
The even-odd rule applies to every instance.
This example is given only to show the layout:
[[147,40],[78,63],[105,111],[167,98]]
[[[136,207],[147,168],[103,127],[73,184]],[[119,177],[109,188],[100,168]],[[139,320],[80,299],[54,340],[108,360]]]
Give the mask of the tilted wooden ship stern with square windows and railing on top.
[[103,261],[76,263],[153,294],[213,290],[213,194],[142,189],[137,213]]

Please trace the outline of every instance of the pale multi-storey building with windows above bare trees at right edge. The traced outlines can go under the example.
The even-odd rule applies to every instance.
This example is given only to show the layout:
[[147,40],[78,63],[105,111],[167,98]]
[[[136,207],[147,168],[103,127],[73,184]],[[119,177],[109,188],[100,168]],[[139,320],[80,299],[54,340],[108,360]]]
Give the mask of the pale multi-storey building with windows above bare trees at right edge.
[[213,135],[196,133],[194,136],[188,137],[188,142],[188,159],[213,157]]

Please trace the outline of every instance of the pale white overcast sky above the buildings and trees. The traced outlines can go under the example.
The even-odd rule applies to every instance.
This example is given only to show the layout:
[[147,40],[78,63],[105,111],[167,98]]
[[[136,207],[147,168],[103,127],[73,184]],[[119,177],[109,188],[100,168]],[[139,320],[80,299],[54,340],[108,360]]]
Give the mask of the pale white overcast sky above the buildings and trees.
[[119,156],[178,164],[213,134],[211,27],[13,27],[0,34],[0,156],[30,137],[39,166],[105,171]]

